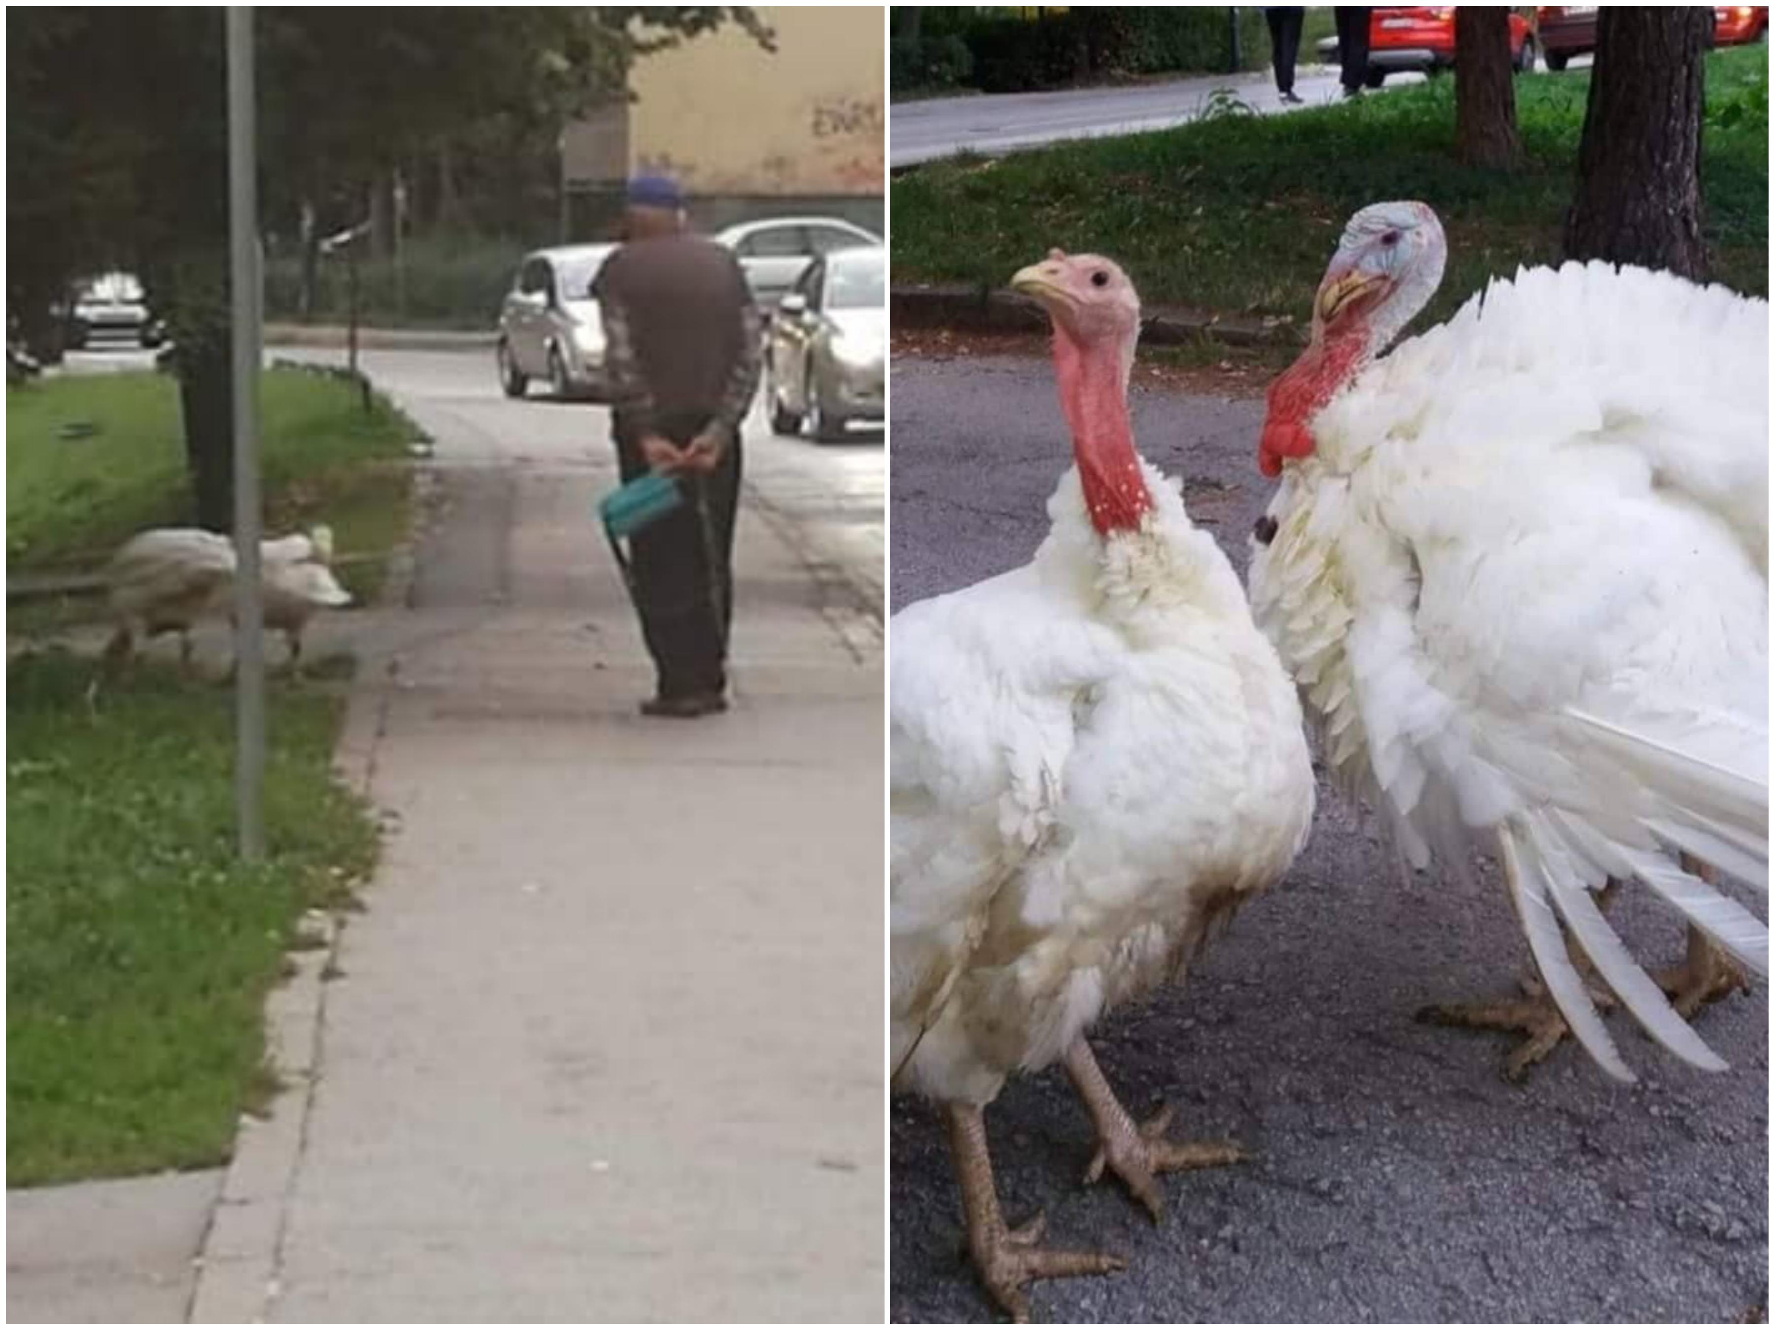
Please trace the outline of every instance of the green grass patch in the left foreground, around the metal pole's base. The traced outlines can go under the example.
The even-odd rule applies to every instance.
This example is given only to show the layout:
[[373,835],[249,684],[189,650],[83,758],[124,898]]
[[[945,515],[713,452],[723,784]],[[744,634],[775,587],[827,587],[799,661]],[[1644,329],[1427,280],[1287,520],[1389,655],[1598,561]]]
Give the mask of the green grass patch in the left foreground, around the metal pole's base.
[[367,874],[328,775],[337,697],[273,685],[270,860],[232,851],[232,693],[142,669],[7,669],[7,1183],[193,1169],[257,1107],[263,1004],[300,910]]

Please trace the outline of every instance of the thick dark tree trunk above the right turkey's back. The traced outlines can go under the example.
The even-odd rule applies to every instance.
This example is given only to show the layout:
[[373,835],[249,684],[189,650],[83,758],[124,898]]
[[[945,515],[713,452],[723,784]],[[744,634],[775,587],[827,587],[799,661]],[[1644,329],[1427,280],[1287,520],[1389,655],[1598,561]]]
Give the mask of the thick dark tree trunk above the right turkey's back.
[[1699,131],[1712,9],[1602,5],[1565,255],[1707,278]]

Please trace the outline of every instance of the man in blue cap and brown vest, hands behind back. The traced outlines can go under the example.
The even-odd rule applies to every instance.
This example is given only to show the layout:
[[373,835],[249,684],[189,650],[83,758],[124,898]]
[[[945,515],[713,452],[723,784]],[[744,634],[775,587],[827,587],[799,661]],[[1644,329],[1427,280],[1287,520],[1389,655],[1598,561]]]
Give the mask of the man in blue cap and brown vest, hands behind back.
[[640,630],[658,670],[649,716],[727,709],[740,422],[761,328],[731,252],[685,231],[676,183],[628,184],[624,245],[593,282],[603,310],[623,481],[678,479],[687,504],[633,537]]

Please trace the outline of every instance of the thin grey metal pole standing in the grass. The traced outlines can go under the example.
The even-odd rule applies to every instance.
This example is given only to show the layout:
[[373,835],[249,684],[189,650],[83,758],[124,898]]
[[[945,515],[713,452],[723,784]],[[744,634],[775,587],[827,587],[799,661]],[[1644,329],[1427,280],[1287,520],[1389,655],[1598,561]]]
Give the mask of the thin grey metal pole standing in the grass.
[[227,11],[227,239],[234,335],[234,802],[239,857],[264,858],[264,599],[259,582],[259,190],[252,7]]

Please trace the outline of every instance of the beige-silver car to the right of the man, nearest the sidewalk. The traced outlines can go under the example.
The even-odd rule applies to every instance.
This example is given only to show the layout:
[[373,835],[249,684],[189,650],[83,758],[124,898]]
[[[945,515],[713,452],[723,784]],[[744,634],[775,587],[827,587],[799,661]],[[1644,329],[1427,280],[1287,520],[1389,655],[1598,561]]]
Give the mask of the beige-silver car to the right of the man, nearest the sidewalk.
[[887,250],[834,250],[782,296],[765,337],[770,427],[821,442],[887,419]]

